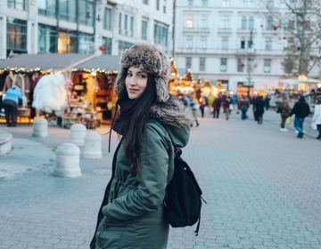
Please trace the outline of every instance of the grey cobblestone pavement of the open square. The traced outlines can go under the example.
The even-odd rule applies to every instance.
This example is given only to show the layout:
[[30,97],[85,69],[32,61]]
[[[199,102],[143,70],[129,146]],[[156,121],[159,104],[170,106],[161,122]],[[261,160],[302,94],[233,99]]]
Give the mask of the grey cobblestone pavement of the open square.
[[[300,140],[292,125],[279,131],[273,111],[261,125],[235,113],[228,121],[199,119],[183,157],[208,204],[199,236],[195,227],[171,229],[168,248],[321,248],[321,142],[308,123]],[[23,139],[31,133],[28,126],[0,129]],[[54,148],[69,131],[52,127],[49,136],[33,140]],[[103,136],[102,159],[81,158],[81,177],[53,177],[46,165],[0,181],[0,248],[88,248],[111,175],[107,144]]]

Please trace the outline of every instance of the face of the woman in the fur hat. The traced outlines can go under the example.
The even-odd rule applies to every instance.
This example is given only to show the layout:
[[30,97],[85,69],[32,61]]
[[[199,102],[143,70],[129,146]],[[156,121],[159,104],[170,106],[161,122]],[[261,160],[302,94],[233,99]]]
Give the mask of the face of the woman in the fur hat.
[[128,98],[134,100],[138,98],[145,90],[147,85],[147,73],[141,68],[131,66],[128,68],[128,75],[126,77],[126,89]]

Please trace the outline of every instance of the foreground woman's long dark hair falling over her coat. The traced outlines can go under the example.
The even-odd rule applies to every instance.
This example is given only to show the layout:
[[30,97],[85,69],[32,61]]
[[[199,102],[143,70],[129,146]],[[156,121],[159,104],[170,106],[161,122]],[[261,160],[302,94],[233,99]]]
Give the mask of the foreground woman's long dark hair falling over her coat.
[[119,105],[120,115],[117,122],[124,125],[125,154],[129,162],[129,171],[132,175],[139,172],[139,146],[142,140],[144,126],[149,116],[150,108],[157,103],[155,77],[148,74],[147,85],[144,92],[135,100],[129,100],[126,87],[119,94],[116,102],[116,110]]

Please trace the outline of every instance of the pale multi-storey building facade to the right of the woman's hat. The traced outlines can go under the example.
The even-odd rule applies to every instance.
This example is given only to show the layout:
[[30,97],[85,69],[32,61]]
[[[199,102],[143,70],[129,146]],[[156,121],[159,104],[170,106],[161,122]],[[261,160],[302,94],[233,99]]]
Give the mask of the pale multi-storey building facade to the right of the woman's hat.
[[[232,92],[247,92],[252,85],[251,91],[276,86],[284,75],[281,61],[287,40],[259,2],[177,0],[177,68],[192,68],[193,75],[211,84],[221,81]],[[316,66],[309,76],[317,75]]]

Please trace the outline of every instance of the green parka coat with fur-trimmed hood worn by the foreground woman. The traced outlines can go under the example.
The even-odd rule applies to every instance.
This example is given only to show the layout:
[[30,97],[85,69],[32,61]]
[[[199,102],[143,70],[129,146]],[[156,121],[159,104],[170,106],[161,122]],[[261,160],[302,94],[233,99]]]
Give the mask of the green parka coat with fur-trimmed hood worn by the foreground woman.
[[193,115],[173,97],[151,108],[150,114],[136,176],[129,172],[123,141],[119,143],[91,248],[167,247],[169,223],[164,217],[163,200],[174,172],[175,157],[169,133],[178,148],[185,147]]

